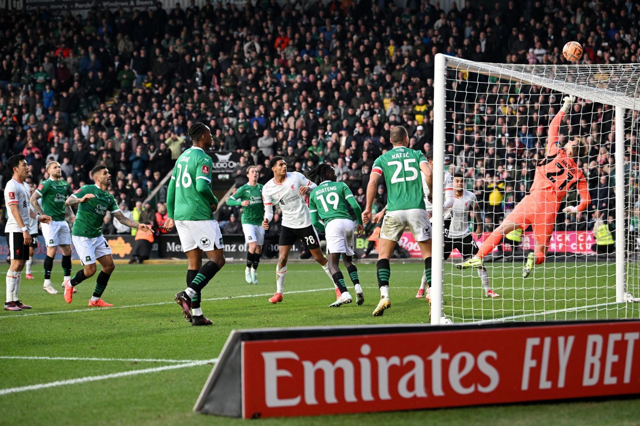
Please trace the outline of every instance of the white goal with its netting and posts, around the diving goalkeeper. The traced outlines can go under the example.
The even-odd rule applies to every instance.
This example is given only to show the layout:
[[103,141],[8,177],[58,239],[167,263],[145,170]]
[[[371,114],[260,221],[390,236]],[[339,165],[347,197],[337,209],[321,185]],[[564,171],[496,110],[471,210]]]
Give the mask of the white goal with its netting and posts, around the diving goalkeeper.
[[[640,65],[503,65],[438,55],[435,74],[431,322],[640,317]],[[495,242],[493,230],[529,194],[567,95],[575,100],[557,146],[586,145],[575,159],[587,183],[586,210],[562,211],[582,200],[569,182],[557,215],[542,217],[548,252],[527,278],[529,253],[540,251],[540,230],[532,227],[504,235],[484,256],[484,269],[457,269],[470,239],[479,247]],[[457,182],[447,235],[445,171]]]

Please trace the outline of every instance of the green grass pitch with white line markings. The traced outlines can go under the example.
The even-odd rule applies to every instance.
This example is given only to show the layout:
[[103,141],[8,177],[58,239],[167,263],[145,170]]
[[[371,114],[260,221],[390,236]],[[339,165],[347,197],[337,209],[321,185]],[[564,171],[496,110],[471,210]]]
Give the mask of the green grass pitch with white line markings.
[[[445,298],[445,312],[449,310],[448,313],[454,313],[456,317],[464,315],[465,319],[481,320],[487,318],[491,308],[489,304],[493,304],[493,308],[502,306],[504,313],[500,315],[526,315],[533,310],[571,309],[576,303],[581,306],[609,303],[615,294],[607,287],[613,276],[612,266],[606,274],[599,268],[595,278],[584,279],[575,277],[588,277],[595,271],[589,269],[595,268],[593,265],[550,266],[552,264],[548,264],[547,269],[534,270],[532,278],[523,284],[522,278],[518,278],[520,265],[490,265],[492,287],[501,296],[520,297],[521,300],[531,296],[529,301],[508,302],[504,298],[483,298],[475,272],[472,280],[466,279],[463,285],[462,272],[454,271],[447,264],[445,277],[450,279],[452,285],[449,288],[456,297]],[[0,377],[3,377],[0,424],[241,424],[243,420],[205,416],[191,411],[211,371],[211,363],[169,369],[182,364],[170,361],[216,358],[232,329],[428,322],[428,305],[414,297],[422,272],[419,263],[392,263],[390,297],[393,305],[379,318],[371,316],[379,297],[374,264],[358,265],[365,290],[364,306],[353,303],[337,309],[327,307],[335,301],[335,293],[332,283],[316,264],[289,265],[285,291],[294,293],[285,293],[284,303],[276,306],[269,304],[269,296],[265,296],[275,291],[275,265],[260,265],[260,284],[253,286],[244,282],[244,265],[228,264],[204,290],[204,299],[216,299],[202,304],[205,315],[214,323],[211,327],[189,326],[173,303],[173,294],[185,287],[184,264],[117,265],[103,296],[105,301],[115,304],[115,308],[109,309],[87,308],[95,278],[79,285],[79,292],[70,305],[64,302],[62,294],[52,296],[45,293],[41,268],[41,264],[35,265],[36,280],[23,278],[20,288],[20,298],[33,305],[33,310],[0,313]],[[77,269],[78,266],[74,265],[74,271]],[[472,274],[469,271],[463,273],[467,278]],[[52,278],[59,286],[62,277],[58,262]],[[579,287],[578,284],[584,280],[588,289],[571,289]],[[566,285],[561,287],[561,283]],[[544,304],[542,299],[551,294],[558,302],[547,301]],[[473,298],[463,302],[460,295]],[[577,295],[577,302],[564,302],[565,296],[568,299],[572,295]],[[606,310],[596,308],[583,316],[602,317],[606,313],[612,317],[621,314],[620,310],[609,305],[603,308]],[[40,315],[42,313],[47,314]],[[637,307],[632,314],[638,316]],[[582,314],[565,311],[548,314],[545,318],[573,319],[576,315],[580,317]],[[159,370],[163,367],[167,369]],[[131,374],[138,370],[150,371]],[[86,379],[103,375],[108,375],[108,378]],[[68,381],[68,384],[63,381]],[[6,391],[24,386],[31,388]],[[637,425],[639,414],[640,400],[627,399],[265,419],[258,422],[261,425],[323,426],[345,423],[369,425],[374,422],[388,425]]]

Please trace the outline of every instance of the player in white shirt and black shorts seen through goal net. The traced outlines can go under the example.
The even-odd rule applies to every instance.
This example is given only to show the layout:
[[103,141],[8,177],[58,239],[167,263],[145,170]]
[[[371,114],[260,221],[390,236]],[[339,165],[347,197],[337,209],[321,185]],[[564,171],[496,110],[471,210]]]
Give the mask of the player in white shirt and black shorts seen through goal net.
[[[447,227],[445,227],[444,260],[449,258],[453,249],[458,249],[463,259],[475,256],[478,252],[478,246],[469,228],[469,215],[475,214],[474,222],[476,223],[476,235],[478,237],[482,235],[482,216],[480,216],[480,213],[477,211],[478,202],[476,194],[467,191],[464,187],[465,177],[462,173],[456,173],[453,177],[455,201],[451,209],[452,215],[449,221],[448,231]],[[447,226],[446,223],[445,226]],[[487,297],[498,297],[499,294],[489,287],[489,272],[484,265],[481,265],[477,271],[484,286],[484,294]]]

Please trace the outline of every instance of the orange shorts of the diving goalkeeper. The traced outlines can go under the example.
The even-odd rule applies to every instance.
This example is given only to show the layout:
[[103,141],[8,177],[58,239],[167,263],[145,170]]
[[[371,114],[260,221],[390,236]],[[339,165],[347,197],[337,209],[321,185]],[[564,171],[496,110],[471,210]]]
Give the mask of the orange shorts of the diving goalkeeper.
[[559,204],[555,196],[529,194],[516,205],[513,212],[507,216],[507,219],[519,225],[523,230],[531,225],[533,238],[548,246],[551,233],[554,231],[554,226],[556,226]]

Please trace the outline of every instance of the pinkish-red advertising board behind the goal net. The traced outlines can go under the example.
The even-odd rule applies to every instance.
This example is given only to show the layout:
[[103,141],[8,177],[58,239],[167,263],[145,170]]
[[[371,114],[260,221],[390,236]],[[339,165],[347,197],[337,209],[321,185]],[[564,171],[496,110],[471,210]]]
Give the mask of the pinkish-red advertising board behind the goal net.
[[[490,232],[485,232],[481,239],[477,239],[474,234],[474,239],[477,244],[480,245],[489,235],[491,235]],[[554,232],[551,234],[551,240],[549,242],[549,253],[579,253],[581,255],[591,255],[594,253],[593,250],[591,250],[591,245],[595,242],[593,232],[591,231]],[[408,251],[412,257],[422,257],[418,243],[415,242],[411,232],[404,232],[398,244]],[[532,251],[535,248],[535,244],[536,242],[533,239],[532,232],[525,232],[522,235],[522,249]],[[502,249],[504,251],[511,251],[511,246],[502,246]],[[498,251],[498,248],[493,249],[493,251]],[[454,250],[450,257],[459,258],[460,253],[458,253],[458,250]]]

